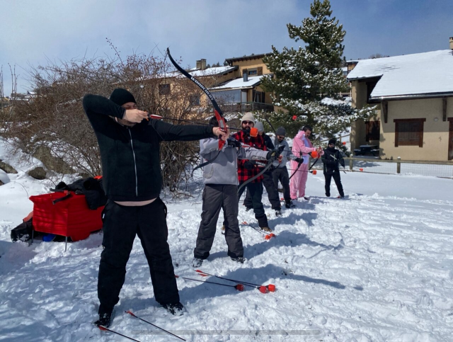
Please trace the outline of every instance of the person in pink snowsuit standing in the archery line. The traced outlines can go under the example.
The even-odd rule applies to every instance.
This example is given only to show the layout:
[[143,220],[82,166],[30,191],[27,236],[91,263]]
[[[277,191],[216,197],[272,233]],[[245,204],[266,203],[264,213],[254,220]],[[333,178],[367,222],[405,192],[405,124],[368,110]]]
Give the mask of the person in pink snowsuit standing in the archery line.
[[[300,164],[300,166],[297,161],[291,161],[292,173],[296,173],[294,176],[291,176],[291,180],[289,182],[289,190],[292,200],[297,200],[297,198],[305,197],[306,178],[309,174],[309,153],[317,150],[319,155],[324,154],[321,148],[316,149],[311,144],[311,141],[309,139],[311,130],[312,128],[310,126],[304,126],[292,141],[292,154],[294,154],[294,156],[300,156],[300,158],[304,159],[303,163]],[[297,166],[299,166],[299,169],[297,169]],[[295,171],[296,169],[297,171]],[[297,195],[297,193],[299,193],[299,195]]]

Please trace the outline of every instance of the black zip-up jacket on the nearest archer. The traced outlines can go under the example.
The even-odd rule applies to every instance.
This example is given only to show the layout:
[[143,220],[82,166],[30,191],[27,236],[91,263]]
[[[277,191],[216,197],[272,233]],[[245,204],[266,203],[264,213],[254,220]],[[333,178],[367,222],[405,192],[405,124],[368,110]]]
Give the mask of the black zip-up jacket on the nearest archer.
[[116,201],[143,201],[159,197],[162,175],[159,159],[161,141],[190,141],[214,137],[212,126],[171,125],[150,119],[127,127],[125,109],[108,98],[88,94],[84,110],[98,138],[105,195]]

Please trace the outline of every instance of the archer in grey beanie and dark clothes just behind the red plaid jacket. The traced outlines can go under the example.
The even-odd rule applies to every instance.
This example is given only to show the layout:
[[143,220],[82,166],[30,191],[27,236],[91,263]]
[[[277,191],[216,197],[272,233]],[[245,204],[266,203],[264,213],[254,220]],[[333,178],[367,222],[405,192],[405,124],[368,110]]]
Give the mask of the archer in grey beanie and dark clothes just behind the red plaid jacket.
[[[263,137],[266,149],[272,151],[274,149],[274,144],[272,142],[272,139],[270,139],[270,137],[264,133],[263,123],[257,121],[255,122],[254,127],[258,130],[258,135]],[[280,156],[281,155],[282,154],[280,154]],[[273,181],[273,171],[275,169],[276,164],[279,164],[278,161],[274,161],[273,166],[270,166],[270,168],[266,170],[265,173],[263,173],[263,186],[266,188],[266,191],[268,192],[269,202],[273,210],[275,210],[275,215],[282,216],[281,211],[282,205],[280,204],[280,196],[278,195],[278,190],[275,187],[275,182]],[[264,167],[265,164],[260,165],[257,163],[257,166]],[[251,210],[253,207],[252,198],[248,191],[246,191],[246,199],[243,201],[243,205],[246,206],[246,210]]]

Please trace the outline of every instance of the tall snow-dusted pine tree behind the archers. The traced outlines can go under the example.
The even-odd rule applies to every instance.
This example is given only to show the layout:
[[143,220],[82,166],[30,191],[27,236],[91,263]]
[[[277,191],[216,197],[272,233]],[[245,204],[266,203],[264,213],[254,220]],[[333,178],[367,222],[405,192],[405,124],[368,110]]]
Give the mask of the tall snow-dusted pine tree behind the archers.
[[302,125],[312,125],[316,132],[332,137],[373,110],[355,110],[338,98],[338,93],[347,91],[341,70],[345,30],[331,17],[330,2],[314,0],[310,14],[300,26],[287,24],[289,38],[302,40],[305,46],[284,47],[282,52],[273,46],[263,58],[273,76],[263,77],[261,85],[275,95],[274,105],[285,109],[273,114],[275,125],[287,128],[289,135]]

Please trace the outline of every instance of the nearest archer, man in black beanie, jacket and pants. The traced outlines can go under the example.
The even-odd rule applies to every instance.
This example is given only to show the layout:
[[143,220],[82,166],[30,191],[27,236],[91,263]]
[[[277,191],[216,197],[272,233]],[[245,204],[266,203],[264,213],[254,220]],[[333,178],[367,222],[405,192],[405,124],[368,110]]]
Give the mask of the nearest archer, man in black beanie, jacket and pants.
[[126,263],[139,236],[149,264],[154,297],[171,314],[182,314],[167,243],[166,205],[159,198],[162,176],[159,143],[191,141],[222,135],[219,127],[170,125],[144,120],[132,93],[115,89],[110,99],[88,94],[84,110],[101,152],[103,186],[108,202],[103,211],[103,252],[98,275],[97,325],[109,326],[120,300]]

